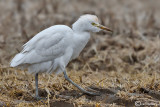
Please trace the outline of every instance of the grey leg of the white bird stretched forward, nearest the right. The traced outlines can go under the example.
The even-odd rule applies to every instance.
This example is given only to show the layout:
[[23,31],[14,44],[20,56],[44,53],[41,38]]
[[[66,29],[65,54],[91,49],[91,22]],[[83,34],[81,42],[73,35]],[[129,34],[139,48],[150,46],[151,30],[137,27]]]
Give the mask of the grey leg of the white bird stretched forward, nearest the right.
[[64,70],[63,72],[64,74],[64,77],[67,81],[69,81],[71,84],[73,84],[75,87],[77,87],[80,91],[82,91],[83,93],[85,94],[88,94],[88,95],[100,95],[100,93],[93,93],[93,92],[89,92],[89,91],[86,91],[84,90],[82,87],[80,87],[79,85],[77,85],[76,83],[74,83],[67,75],[66,71]]

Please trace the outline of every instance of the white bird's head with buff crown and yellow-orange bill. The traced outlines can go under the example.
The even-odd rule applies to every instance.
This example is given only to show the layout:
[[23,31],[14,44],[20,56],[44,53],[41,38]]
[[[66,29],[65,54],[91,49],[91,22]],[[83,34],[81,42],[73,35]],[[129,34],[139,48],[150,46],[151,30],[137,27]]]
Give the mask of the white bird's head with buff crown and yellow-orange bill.
[[82,15],[74,24],[73,30],[76,31],[91,31],[99,32],[100,30],[106,30],[112,32],[109,28],[99,24],[98,17],[95,15]]

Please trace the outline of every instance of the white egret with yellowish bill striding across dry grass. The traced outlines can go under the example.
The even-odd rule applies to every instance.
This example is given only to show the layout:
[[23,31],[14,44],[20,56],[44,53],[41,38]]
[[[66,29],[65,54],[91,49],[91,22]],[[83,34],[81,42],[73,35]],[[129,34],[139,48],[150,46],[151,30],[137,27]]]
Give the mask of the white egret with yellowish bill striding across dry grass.
[[97,95],[89,92],[74,83],[66,74],[66,66],[79,56],[82,49],[90,39],[90,32],[100,30],[111,31],[99,24],[95,15],[82,15],[73,25],[72,29],[66,25],[51,26],[23,45],[23,50],[11,61],[11,67],[28,68],[35,74],[36,98],[38,94],[38,74],[42,72],[63,72],[64,77],[85,94]]

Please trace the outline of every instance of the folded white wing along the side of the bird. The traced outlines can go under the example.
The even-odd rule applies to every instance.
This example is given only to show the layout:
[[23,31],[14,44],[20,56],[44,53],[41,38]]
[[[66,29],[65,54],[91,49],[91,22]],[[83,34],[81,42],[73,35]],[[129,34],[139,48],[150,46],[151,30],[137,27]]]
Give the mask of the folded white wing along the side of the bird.
[[39,63],[62,56],[69,46],[72,30],[67,26],[48,28],[24,44],[21,64]]

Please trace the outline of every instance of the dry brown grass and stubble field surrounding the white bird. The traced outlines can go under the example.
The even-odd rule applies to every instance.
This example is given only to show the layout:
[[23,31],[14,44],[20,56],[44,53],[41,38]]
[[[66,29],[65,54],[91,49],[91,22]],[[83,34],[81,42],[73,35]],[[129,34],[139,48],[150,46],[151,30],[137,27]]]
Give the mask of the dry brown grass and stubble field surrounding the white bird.
[[[0,106],[134,106],[160,104],[160,2],[149,0],[0,1]],[[82,8],[83,7],[83,8]],[[113,35],[100,32],[67,68],[70,78],[101,96],[81,95],[63,75],[40,75],[35,101],[34,76],[9,68],[11,58],[37,32],[71,24],[93,13]]]

